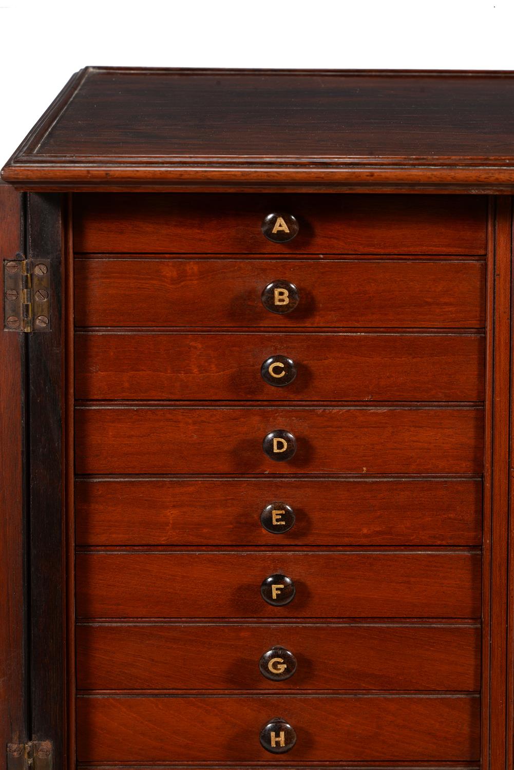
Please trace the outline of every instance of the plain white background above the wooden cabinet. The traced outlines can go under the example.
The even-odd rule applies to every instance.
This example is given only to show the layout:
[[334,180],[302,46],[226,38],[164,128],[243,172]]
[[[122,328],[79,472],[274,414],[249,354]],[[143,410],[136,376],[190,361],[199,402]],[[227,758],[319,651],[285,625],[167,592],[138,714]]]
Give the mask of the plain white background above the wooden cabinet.
[[0,166],[84,65],[514,69],[514,0],[0,0]]

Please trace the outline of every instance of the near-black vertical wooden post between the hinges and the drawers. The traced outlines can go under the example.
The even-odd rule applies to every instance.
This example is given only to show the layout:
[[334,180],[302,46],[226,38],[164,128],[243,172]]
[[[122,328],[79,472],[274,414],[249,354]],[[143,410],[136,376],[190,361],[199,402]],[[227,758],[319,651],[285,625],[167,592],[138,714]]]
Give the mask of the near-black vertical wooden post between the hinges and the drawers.
[[28,254],[47,259],[51,330],[29,335],[29,560],[32,739],[51,740],[65,767],[66,638],[63,532],[62,199],[29,195]]

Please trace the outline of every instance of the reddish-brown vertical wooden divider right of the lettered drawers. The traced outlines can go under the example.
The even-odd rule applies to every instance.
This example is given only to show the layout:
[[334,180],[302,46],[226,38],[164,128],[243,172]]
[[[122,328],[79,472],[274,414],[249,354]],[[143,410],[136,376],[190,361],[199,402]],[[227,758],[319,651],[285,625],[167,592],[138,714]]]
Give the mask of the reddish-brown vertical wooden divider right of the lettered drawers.
[[486,322],[482,584],[482,768],[504,770],[511,435],[512,200],[491,202]]

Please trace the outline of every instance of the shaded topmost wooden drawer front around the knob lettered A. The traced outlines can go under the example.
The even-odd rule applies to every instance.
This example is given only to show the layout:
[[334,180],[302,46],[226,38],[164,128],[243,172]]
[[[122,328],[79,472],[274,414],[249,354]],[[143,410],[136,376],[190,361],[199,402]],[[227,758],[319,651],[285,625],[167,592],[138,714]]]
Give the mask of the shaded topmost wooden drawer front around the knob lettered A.
[[[261,230],[273,212],[297,219],[287,243]],[[76,195],[73,220],[77,253],[479,255],[486,243],[483,196]]]

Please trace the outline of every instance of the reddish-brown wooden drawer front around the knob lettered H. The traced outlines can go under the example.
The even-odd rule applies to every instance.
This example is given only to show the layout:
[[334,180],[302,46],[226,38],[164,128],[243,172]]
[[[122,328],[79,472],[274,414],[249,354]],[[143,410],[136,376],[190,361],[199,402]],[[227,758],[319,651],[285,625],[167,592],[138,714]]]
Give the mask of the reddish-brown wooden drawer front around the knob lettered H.
[[[260,729],[281,716],[297,734],[271,755]],[[479,698],[78,698],[79,762],[472,761],[479,758]],[[142,729],[151,725],[151,729]],[[240,765],[237,765],[239,767]]]

